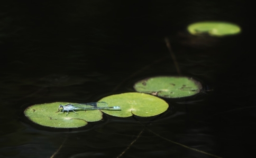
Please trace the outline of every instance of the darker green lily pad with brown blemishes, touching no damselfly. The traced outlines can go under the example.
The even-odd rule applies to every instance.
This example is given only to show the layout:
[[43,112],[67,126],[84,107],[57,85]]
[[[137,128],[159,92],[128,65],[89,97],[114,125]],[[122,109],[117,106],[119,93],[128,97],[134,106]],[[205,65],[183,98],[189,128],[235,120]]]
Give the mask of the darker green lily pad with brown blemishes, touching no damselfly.
[[191,96],[202,90],[202,84],[191,77],[158,76],[145,78],[134,84],[137,92],[151,95],[180,98]]

